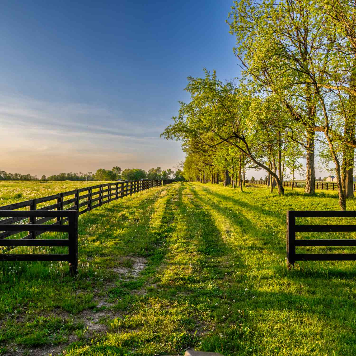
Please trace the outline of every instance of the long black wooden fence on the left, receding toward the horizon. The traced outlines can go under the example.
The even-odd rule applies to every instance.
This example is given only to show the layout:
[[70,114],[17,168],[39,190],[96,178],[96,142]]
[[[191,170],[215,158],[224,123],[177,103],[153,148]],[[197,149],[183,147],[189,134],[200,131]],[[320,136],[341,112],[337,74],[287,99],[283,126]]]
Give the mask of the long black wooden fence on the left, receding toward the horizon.
[[[173,180],[125,180],[0,206],[0,218],[5,218],[0,219],[0,231],[2,231],[0,232],[0,247],[5,247],[5,252],[17,246],[68,246],[69,248],[68,255],[1,253],[0,261],[68,261],[71,273],[75,274],[78,263],[78,215],[110,203],[110,201],[171,182]],[[27,219],[28,223],[26,223]],[[56,221],[52,224],[41,225],[53,219]],[[64,225],[67,222],[68,225]],[[7,239],[23,231],[28,231],[28,235],[21,239]],[[34,241],[37,236],[48,231],[68,232],[68,240]]]

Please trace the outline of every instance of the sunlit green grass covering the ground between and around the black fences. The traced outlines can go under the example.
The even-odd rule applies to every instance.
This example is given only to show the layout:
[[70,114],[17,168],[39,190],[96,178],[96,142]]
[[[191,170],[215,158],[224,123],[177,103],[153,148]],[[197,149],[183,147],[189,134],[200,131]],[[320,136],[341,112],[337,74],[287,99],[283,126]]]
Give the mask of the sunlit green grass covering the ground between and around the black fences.
[[[49,184],[36,197],[63,191]],[[286,269],[286,210],[307,209],[339,210],[336,193],[173,183],[81,215],[77,278],[66,263],[0,263],[0,353],[355,355],[355,263]]]

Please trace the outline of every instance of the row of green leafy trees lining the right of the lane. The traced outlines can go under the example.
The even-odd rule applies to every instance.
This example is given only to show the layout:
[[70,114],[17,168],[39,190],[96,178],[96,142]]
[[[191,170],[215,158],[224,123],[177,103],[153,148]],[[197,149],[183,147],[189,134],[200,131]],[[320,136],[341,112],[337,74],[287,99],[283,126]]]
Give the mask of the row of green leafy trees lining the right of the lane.
[[191,100],[162,133],[182,141],[185,178],[209,174],[214,183],[230,173],[242,190],[246,169],[264,169],[284,194],[287,172],[305,158],[305,192],[314,194],[319,153],[334,166],[345,210],[354,197],[356,3],[241,0],[227,23],[242,79],[222,82],[208,70],[188,77]]

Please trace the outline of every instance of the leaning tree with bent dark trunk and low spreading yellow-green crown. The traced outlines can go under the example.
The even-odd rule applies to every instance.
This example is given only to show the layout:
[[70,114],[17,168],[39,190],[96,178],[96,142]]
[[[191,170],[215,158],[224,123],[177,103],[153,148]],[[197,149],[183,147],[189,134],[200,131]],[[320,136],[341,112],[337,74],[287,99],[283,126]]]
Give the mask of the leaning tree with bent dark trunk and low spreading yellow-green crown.
[[[256,126],[258,117],[251,114],[255,106],[258,115],[261,100],[245,94],[233,82],[223,84],[216,78],[215,71],[210,74],[205,69],[205,78],[188,77],[188,80],[185,90],[191,93],[192,100],[189,104],[180,103],[179,115],[172,118],[174,124],[169,125],[161,136],[167,140],[181,140],[183,147],[193,140],[209,148],[223,147],[227,152],[229,147],[234,147],[239,151],[240,177],[241,156],[244,155],[271,174],[279,194],[284,194],[276,172],[263,162],[263,157],[266,157],[266,147],[263,145],[266,131],[263,125]],[[224,174],[226,176],[226,171]]]

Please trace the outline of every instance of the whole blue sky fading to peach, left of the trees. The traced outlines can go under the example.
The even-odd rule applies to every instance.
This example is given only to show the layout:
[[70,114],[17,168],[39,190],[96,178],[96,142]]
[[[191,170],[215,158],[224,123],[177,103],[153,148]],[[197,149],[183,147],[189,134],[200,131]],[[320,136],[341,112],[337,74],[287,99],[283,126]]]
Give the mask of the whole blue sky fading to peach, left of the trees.
[[0,169],[41,176],[174,167],[159,138],[187,76],[240,75],[232,1],[5,1]]

